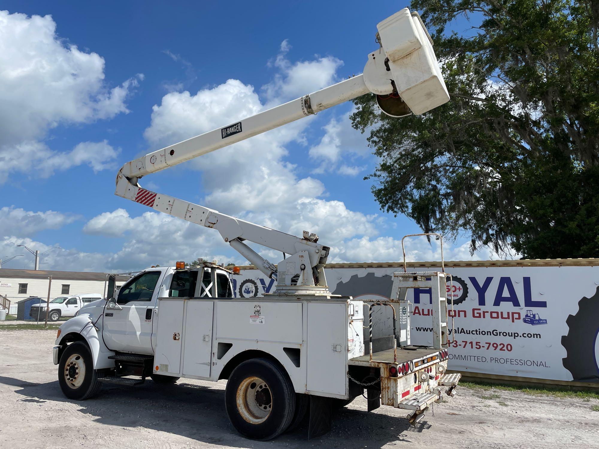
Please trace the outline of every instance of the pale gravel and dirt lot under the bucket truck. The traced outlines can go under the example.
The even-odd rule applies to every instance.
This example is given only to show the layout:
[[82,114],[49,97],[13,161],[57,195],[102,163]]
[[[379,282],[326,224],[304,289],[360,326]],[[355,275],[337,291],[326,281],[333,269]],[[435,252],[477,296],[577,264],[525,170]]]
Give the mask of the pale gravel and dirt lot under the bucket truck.
[[235,433],[225,414],[225,381],[181,380],[134,388],[104,386],[94,399],[65,399],[52,364],[56,330],[0,330],[0,447],[599,447],[599,401],[461,388],[414,429],[404,411],[366,411],[356,399],[327,435],[307,429],[274,441]]

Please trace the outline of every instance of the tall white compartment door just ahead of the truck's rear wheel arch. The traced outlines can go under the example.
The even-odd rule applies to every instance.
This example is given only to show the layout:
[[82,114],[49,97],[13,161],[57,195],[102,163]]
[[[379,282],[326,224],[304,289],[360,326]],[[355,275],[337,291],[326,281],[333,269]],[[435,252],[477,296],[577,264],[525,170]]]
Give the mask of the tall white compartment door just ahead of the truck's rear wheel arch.
[[210,377],[213,310],[212,301],[187,301],[183,343],[183,374],[186,376]]

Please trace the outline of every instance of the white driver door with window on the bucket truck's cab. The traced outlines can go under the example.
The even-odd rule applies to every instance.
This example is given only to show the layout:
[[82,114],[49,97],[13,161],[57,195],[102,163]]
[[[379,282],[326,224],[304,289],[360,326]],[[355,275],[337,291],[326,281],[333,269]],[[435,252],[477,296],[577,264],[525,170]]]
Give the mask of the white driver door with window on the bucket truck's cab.
[[153,354],[152,324],[154,308],[163,274],[146,271],[119,290],[116,303],[122,309],[104,310],[102,336],[111,351]]

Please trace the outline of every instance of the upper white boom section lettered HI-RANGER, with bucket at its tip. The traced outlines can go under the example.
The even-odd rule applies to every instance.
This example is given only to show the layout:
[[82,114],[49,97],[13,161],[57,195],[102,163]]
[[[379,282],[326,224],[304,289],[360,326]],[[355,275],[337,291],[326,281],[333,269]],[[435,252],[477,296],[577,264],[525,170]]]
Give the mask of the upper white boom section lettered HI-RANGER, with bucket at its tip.
[[153,151],[126,163],[120,173],[135,183],[147,174],[279,128],[369,92],[377,95],[383,112],[394,117],[422,114],[449,101],[431,38],[418,13],[410,13],[404,8],[380,22],[377,28],[380,48],[368,54],[364,74]]

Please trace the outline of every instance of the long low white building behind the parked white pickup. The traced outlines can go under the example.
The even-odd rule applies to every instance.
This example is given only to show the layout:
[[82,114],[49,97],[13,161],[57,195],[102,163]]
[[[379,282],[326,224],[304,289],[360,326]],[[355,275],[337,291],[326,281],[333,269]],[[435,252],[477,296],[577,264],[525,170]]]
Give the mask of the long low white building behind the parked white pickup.
[[[104,296],[106,273],[89,273],[78,271],[47,271],[0,268],[0,296],[11,302],[17,302],[29,296],[48,297],[50,300],[61,295],[84,295],[98,293]],[[117,287],[122,286],[129,278],[117,277]]]

